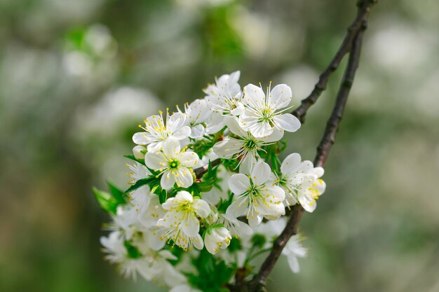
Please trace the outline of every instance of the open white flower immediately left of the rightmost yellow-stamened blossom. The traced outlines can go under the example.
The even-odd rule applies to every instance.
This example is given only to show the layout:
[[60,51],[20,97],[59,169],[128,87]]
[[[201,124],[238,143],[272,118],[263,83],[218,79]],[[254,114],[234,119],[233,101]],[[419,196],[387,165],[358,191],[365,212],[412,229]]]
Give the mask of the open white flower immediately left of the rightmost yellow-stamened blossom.
[[250,227],[259,225],[264,217],[275,220],[285,214],[285,192],[270,178],[271,169],[265,162],[253,167],[250,178],[245,174],[232,175],[229,188],[235,196],[226,214],[235,218],[246,215]]

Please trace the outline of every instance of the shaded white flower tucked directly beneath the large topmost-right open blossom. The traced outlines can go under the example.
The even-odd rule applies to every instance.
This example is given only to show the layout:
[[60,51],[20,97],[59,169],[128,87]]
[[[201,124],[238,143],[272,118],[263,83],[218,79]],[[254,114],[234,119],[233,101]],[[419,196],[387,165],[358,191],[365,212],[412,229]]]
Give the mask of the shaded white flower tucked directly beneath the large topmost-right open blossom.
[[259,159],[258,151],[263,146],[279,141],[283,136],[283,131],[274,130],[269,137],[255,138],[250,132],[241,129],[236,118],[227,119],[227,126],[236,138],[225,137],[213,146],[213,151],[219,158],[240,159],[241,173],[250,173]]

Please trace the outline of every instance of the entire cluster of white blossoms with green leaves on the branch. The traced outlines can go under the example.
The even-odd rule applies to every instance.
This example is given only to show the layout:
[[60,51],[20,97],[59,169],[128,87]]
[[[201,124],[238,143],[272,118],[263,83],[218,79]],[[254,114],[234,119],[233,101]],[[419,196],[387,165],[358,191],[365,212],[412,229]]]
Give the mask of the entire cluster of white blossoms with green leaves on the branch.
[[[112,216],[101,239],[106,258],[124,276],[173,292],[228,291],[234,272],[272,246],[285,209],[316,209],[323,169],[298,153],[278,158],[285,131],[300,128],[288,112],[290,87],[241,89],[239,77],[223,75],[203,99],[146,118],[126,155],[128,190],[94,189]],[[293,272],[306,256],[302,239],[295,235],[283,251]]]

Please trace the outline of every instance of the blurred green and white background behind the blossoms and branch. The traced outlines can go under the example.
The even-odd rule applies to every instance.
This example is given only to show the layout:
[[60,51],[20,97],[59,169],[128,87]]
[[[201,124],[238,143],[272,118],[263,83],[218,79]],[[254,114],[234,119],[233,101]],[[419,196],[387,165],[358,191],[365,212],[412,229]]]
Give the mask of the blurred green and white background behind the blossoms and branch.
[[[356,13],[346,0],[0,0],[0,291],[163,291],[102,259],[90,191],[126,187],[131,135],[214,76],[306,97]],[[439,291],[439,3],[380,1],[327,162],[327,191],[269,291]],[[289,134],[313,159],[342,71]]]

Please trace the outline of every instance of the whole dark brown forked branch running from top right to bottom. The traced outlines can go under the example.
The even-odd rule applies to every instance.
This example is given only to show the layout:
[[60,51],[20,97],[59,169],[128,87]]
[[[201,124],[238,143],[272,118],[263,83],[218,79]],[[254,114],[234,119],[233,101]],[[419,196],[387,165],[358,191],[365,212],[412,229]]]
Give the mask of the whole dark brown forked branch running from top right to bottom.
[[[316,158],[314,159],[315,166],[323,167],[325,165],[332,144],[334,144],[335,135],[339,130],[339,123],[342,120],[344,108],[346,106],[346,101],[349,96],[349,92],[351,90],[353,79],[356,74],[356,69],[358,68],[361,44],[363,41],[363,33],[367,27],[367,19],[370,12],[370,8],[372,8],[372,6],[375,3],[376,1],[374,0],[364,0],[358,2],[357,4],[358,15],[365,15],[365,16],[360,18],[361,22],[358,27],[358,30],[356,31],[355,34],[353,34],[352,37],[349,36],[349,34],[352,34],[352,29],[348,29],[348,36],[346,36],[345,41],[346,39],[351,38],[351,43],[349,45],[342,45],[341,47],[341,48],[344,48],[344,46],[346,46],[346,48],[349,47],[349,51],[350,51],[349,62],[346,67],[346,70],[344,71],[344,77],[342,79],[342,83],[340,85],[339,92],[337,94],[337,99],[335,102],[334,109],[332,110],[329,120],[327,120],[325,132],[323,133],[323,137],[320,141],[320,144],[317,147]],[[356,20],[357,19],[358,16]],[[351,27],[356,27],[356,26],[351,25]],[[334,60],[337,60],[337,55],[339,54],[340,51],[337,52],[336,57],[335,59],[332,60],[331,64],[334,62]],[[338,66],[339,61],[337,61],[335,64],[337,64]],[[330,68],[332,68],[331,65],[330,67],[328,67],[328,69]],[[328,69],[326,69],[325,72],[327,72]],[[322,75],[320,75],[320,80],[319,80],[319,83],[321,80],[323,80],[324,85],[327,83],[327,76],[329,76],[329,75],[326,76],[325,72]],[[306,114],[306,111],[309,109],[309,106],[311,106],[313,102],[316,101],[321,91],[324,90],[323,88],[323,90],[319,91],[320,90],[319,83],[317,83],[316,88],[314,88],[313,90],[314,93],[311,92],[311,95],[306,98],[309,100],[306,101],[305,99],[304,101],[302,101],[302,105],[299,107],[299,109],[301,108],[302,109],[297,112],[295,111],[297,117],[303,118],[304,115]],[[271,271],[273,270],[274,265],[276,265],[276,261],[278,260],[279,256],[281,256],[281,252],[283,248],[287,244],[290,237],[292,237],[292,235],[297,234],[297,225],[299,223],[300,218],[302,217],[302,213],[303,213],[303,208],[301,206],[295,206],[292,208],[292,212],[290,218],[288,219],[288,223],[285,226],[285,229],[283,230],[281,235],[279,235],[279,237],[273,242],[273,248],[271,249],[269,256],[267,256],[266,260],[264,260],[264,263],[262,263],[262,266],[258,274],[256,274],[255,277],[252,279],[252,281],[250,281],[250,287],[249,287],[250,291],[265,291],[265,287],[264,287],[265,281],[268,278]]]

